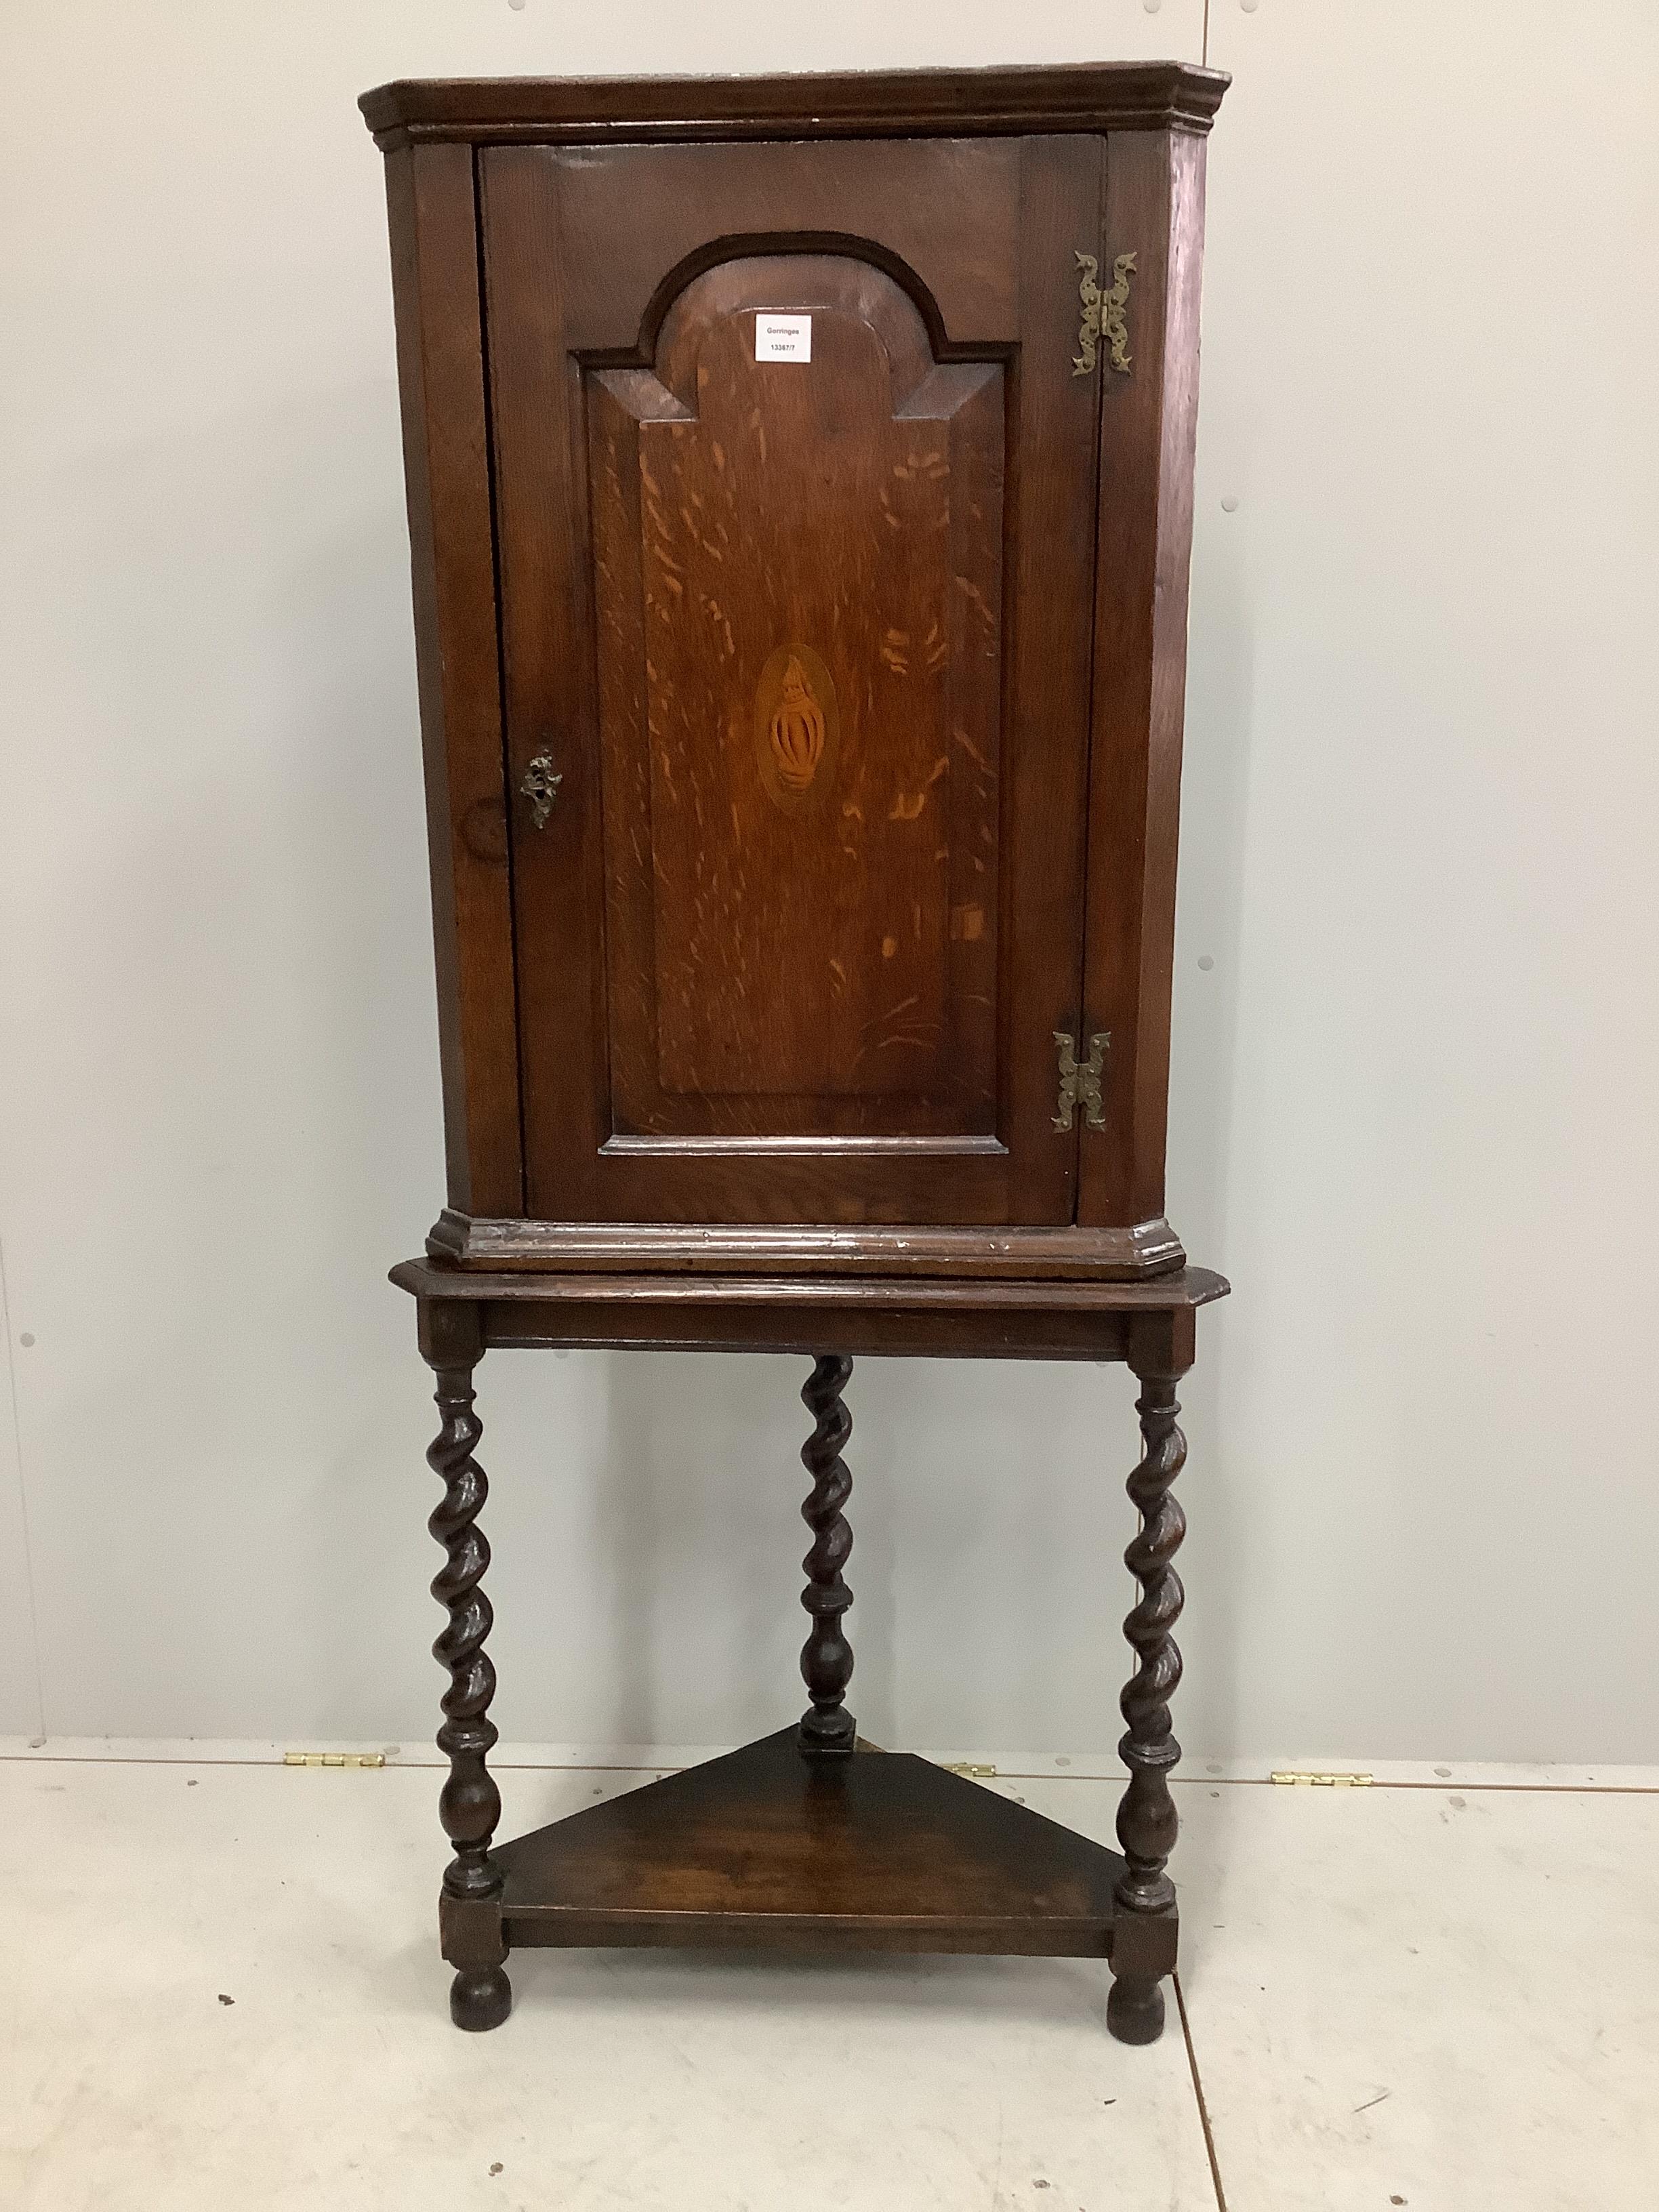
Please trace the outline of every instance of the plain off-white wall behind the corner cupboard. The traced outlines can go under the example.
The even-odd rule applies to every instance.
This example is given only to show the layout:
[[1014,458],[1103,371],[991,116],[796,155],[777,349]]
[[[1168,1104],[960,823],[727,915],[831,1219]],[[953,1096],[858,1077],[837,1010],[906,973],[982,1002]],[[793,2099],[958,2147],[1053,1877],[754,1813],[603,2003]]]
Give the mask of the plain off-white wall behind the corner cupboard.
[[[0,1730],[425,1736],[392,75],[1201,55],[1203,0],[55,0],[0,133]],[[1659,18],[1210,0],[1170,1212],[1197,1754],[1659,1759]],[[7,1383],[11,1378],[11,1383]],[[792,1360],[484,1363],[507,1734],[799,1703]],[[854,1705],[1106,1750],[1121,1371],[860,1367]]]

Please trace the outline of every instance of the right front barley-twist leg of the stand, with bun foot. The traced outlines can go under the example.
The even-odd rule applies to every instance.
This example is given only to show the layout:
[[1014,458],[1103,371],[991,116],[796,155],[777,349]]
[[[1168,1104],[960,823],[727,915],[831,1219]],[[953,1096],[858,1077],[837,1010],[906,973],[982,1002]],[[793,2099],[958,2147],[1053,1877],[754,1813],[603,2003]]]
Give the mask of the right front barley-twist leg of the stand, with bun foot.
[[[1170,1630],[1181,1617],[1181,1577],[1170,1564],[1186,1535],[1181,1506],[1170,1498],[1170,1484],[1186,1462],[1186,1438],[1175,1416],[1179,1374],[1141,1374],[1141,1464],[1128,1478],[1128,1495],[1141,1524],[1124,1553],[1124,1564],[1141,1586],[1139,1604],[1124,1621],[1124,1635],[1135,1646],[1139,1666],[1121,1697],[1128,1723],[1117,1752],[1128,1767],[1128,1790],[1117,1807],[1117,1840],[1128,1865],[1117,1880],[1121,1913],[1168,1913],[1175,1905],[1175,1882],[1164,1871],[1175,1849],[1175,1798],[1170,1770],[1181,1745],[1170,1732],[1170,1697],[1181,1679],[1181,1652]],[[1121,1942],[1115,1955],[1124,1969],[1113,1980],[1106,2024],[1126,2044],[1150,2044],[1164,2028],[1164,1991],[1159,1980],[1137,1973],[1130,1964],[1135,1947]]]

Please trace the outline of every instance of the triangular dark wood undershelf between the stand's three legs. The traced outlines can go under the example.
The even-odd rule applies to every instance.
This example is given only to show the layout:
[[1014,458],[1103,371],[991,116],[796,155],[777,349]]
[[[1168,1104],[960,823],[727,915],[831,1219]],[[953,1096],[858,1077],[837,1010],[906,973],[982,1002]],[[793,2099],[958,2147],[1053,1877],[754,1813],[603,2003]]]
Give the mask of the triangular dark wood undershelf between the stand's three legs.
[[[792,1728],[495,1849],[520,1944],[1104,1958],[1115,1851],[907,1752]],[[1170,1931],[1172,1936],[1172,1931]]]

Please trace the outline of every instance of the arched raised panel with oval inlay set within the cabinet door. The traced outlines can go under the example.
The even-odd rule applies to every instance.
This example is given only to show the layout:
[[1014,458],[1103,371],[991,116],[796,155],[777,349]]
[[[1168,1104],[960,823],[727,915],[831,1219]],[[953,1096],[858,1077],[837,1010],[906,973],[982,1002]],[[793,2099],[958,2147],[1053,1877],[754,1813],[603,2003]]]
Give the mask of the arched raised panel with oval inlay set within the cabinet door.
[[1004,383],[845,254],[586,372],[613,1144],[1000,1150]]

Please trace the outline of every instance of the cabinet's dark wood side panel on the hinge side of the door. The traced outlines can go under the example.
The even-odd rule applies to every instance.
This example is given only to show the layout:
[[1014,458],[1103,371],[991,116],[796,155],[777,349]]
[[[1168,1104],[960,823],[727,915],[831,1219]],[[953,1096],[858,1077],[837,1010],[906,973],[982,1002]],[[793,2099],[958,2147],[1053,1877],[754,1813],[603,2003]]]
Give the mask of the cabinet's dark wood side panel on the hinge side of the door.
[[1201,137],[1161,133],[1106,153],[1102,283],[1117,254],[1133,252],[1135,272],[1126,374],[1102,345],[1086,1026],[1113,1044],[1079,1210],[1102,1225],[1164,1212],[1203,153]]

